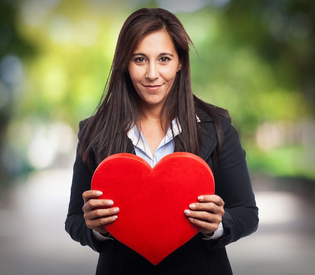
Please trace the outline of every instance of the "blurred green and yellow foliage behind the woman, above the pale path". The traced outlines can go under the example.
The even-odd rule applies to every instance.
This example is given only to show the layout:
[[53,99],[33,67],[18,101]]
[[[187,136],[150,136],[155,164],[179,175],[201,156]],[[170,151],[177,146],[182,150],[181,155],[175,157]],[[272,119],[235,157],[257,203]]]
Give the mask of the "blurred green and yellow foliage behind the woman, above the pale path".
[[72,165],[78,122],[142,7],[182,21],[196,49],[193,91],[229,110],[251,174],[315,182],[313,1],[1,0],[2,193],[29,171]]

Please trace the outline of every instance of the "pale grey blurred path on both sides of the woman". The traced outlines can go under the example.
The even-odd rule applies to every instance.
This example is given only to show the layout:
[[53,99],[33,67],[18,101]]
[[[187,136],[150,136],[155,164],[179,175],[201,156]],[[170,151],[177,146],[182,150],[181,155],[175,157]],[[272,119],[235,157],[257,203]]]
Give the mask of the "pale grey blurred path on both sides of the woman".
[[[1,274],[95,273],[98,254],[64,230],[71,177],[71,169],[30,174],[1,202]],[[258,231],[227,246],[234,275],[312,275],[314,202],[272,190],[257,190],[256,199]]]

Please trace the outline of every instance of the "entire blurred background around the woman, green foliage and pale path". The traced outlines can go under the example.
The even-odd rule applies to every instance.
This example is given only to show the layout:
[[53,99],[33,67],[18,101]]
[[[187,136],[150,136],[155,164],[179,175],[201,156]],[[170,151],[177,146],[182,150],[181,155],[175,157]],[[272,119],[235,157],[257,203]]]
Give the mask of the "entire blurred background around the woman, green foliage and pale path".
[[194,42],[194,93],[229,110],[247,152],[260,225],[227,246],[235,275],[313,274],[314,3],[0,0],[0,273],[95,270],[97,254],[64,231],[78,123],[125,19],[159,7]]

